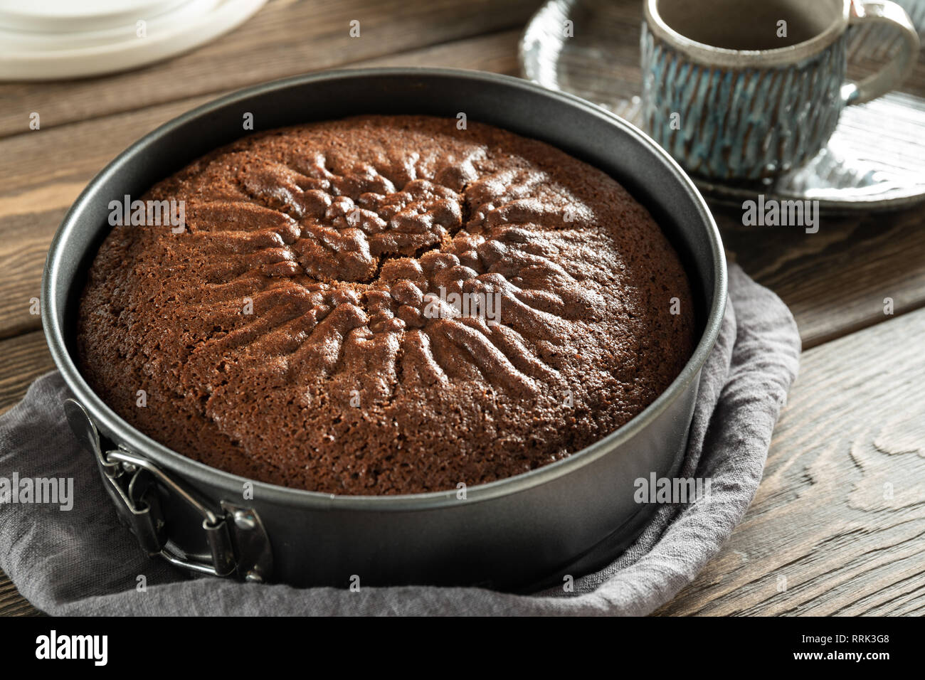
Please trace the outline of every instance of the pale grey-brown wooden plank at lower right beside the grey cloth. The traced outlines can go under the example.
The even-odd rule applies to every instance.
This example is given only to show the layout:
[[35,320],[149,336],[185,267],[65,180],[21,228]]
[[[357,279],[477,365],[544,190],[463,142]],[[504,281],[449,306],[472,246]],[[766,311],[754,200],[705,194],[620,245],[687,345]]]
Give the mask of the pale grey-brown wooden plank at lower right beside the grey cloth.
[[923,337],[919,310],[803,353],[745,521],[659,613],[925,613]]

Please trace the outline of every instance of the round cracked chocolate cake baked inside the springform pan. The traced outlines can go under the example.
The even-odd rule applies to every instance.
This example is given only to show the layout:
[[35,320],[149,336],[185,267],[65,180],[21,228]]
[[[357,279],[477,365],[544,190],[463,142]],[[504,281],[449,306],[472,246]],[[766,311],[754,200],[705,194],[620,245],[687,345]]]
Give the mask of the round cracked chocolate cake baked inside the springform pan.
[[600,170],[458,122],[272,130],[154,186],[184,221],[96,255],[91,387],[197,461],[333,494],[473,486],[622,426],[693,350],[676,253]]

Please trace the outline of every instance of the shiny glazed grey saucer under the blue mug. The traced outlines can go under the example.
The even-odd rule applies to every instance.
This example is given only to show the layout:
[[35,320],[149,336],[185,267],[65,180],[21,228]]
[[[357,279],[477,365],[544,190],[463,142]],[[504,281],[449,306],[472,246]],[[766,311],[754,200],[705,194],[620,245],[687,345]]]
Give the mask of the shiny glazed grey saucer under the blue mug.
[[[925,0],[901,4],[922,31]],[[641,23],[641,0],[550,0],[524,30],[521,75],[642,127]],[[858,32],[852,39],[849,73],[876,68],[888,52],[881,36]],[[768,184],[693,179],[701,192],[721,203],[739,204],[756,193],[778,200],[818,200],[830,212],[917,203],[925,199],[925,99],[894,92],[845,108],[827,148],[808,165]]]

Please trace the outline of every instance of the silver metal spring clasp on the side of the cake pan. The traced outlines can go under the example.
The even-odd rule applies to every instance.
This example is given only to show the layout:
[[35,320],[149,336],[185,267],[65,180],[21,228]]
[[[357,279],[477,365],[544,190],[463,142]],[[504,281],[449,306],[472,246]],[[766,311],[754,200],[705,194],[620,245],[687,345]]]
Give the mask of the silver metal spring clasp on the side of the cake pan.
[[[221,512],[213,512],[196,494],[146,458],[121,446],[103,451],[99,432],[79,402],[68,399],[64,408],[80,444],[96,458],[119,515],[149,555],[160,555],[169,563],[200,574],[237,575],[255,582],[270,576],[273,554],[264,525],[253,508],[220,501]],[[162,494],[182,501],[202,518],[209,554],[188,553],[171,540],[161,509]]]

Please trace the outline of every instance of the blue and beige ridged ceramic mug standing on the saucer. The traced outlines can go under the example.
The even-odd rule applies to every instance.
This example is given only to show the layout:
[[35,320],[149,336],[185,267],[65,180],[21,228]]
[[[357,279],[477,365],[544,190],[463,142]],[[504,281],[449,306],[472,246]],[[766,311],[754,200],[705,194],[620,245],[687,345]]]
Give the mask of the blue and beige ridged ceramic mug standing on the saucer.
[[[643,120],[692,175],[772,179],[806,163],[845,105],[898,87],[919,35],[887,0],[644,0]],[[889,25],[899,49],[845,81],[847,29]]]

